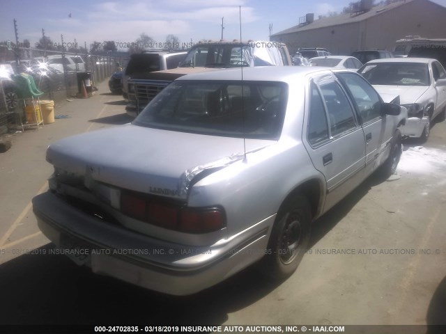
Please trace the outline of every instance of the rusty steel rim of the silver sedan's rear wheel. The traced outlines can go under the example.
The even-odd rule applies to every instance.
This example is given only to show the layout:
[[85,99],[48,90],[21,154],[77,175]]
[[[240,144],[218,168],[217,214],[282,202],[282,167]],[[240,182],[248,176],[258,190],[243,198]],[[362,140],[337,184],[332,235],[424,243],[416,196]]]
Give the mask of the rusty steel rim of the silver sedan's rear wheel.
[[291,212],[286,217],[279,242],[279,259],[283,264],[293,262],[298,255],[302,234],[301,216],[298,212]]

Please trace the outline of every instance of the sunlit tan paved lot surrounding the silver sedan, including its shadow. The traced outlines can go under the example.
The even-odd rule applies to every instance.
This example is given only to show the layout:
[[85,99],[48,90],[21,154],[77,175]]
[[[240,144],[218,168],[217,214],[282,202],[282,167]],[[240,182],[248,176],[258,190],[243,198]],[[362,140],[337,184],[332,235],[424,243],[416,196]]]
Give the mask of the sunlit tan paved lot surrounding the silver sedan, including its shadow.
[[399,180],[372,177],[313,228],[312,248],[284,282],[247,269],[194,296],[172,297],[94,276],[58,255],[30,200],[46,190],[49,143],[129,122],[106,83],[56,109],[70,118],[19,134],[0,155],[0,323],[446,324],[446,122],[406,142]]

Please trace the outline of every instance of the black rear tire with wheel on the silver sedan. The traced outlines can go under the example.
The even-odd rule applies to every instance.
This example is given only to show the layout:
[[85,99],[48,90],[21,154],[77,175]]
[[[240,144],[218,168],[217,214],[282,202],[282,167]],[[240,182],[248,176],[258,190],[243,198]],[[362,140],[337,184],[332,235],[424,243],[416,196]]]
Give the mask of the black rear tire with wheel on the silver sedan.
[[307,250],[311,225],[307,198],[298,195],[284,202],[272,227],[268,253],[260,262],[266,276],[284,279],[294,273]]

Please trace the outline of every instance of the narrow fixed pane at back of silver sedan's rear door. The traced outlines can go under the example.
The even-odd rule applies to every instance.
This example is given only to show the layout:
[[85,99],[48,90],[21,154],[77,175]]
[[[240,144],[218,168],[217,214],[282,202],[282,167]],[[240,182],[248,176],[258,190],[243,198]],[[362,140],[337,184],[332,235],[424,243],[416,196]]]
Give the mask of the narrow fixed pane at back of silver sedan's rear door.
[[325,107],[321,94],[314,83],[310,86],[307,138],[312,146],[322,145],[330,139]]

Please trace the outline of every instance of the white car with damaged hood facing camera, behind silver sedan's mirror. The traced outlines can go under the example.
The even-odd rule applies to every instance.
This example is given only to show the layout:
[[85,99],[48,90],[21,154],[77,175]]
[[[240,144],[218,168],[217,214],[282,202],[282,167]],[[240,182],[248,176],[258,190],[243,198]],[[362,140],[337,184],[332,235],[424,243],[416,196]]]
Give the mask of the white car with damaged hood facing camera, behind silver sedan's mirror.
[[408,109],[408,122],[403,136],[427,140],[431,121],[445,119],[446,72],[435,59],[390,58],[377,59],[357,71],[378,93],[393,93]]

